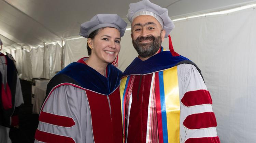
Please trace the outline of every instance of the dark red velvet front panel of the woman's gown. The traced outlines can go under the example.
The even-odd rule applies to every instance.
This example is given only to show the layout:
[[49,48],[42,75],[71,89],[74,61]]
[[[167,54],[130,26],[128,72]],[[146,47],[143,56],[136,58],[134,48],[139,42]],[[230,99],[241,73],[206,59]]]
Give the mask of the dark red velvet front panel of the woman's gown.
[[[119,89],[108,97],[86,90],[95,143],[122,143],[123,128]],[[110,113],[111,108],[111,113]]]

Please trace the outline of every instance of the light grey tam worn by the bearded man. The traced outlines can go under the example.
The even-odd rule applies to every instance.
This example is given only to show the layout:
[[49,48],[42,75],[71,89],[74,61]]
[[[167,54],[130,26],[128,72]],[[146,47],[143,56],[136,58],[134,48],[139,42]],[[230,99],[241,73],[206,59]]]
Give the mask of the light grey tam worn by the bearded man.
[[166,31],[165,38],[174,28],[174,24],[171,18],[168,16],[168,10],[156,5],[149,0],[142,0],[136,3],[130,4],[127,18],[132,23],[133,19],[140,15],[151,15],[155,17]]

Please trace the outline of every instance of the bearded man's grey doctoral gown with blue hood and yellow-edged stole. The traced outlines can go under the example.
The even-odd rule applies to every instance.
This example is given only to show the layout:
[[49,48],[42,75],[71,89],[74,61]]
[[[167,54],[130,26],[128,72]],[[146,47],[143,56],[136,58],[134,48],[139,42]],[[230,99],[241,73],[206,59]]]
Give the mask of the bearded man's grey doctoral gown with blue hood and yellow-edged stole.
[[127,143],[219,143],[212,99],[199,68],[161,51],[135,58],[120,83]]

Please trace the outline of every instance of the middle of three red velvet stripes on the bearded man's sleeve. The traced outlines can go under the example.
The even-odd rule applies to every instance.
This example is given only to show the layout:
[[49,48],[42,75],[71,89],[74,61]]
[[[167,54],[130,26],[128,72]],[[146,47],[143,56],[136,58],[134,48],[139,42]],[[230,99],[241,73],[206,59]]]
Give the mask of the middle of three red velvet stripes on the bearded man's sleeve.
[[204,112],[187,116],[183,125],[186,128],[193,130],[217,127],[217,122],[213,112]]

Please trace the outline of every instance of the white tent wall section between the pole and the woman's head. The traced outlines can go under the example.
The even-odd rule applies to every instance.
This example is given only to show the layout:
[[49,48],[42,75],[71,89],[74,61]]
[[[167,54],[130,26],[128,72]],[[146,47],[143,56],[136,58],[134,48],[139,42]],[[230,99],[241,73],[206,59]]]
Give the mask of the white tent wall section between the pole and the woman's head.
[[79,38],[65,41],[64,45],[64,67],[76,62],[83,57],[88,57],[86,48],[87,39]]

